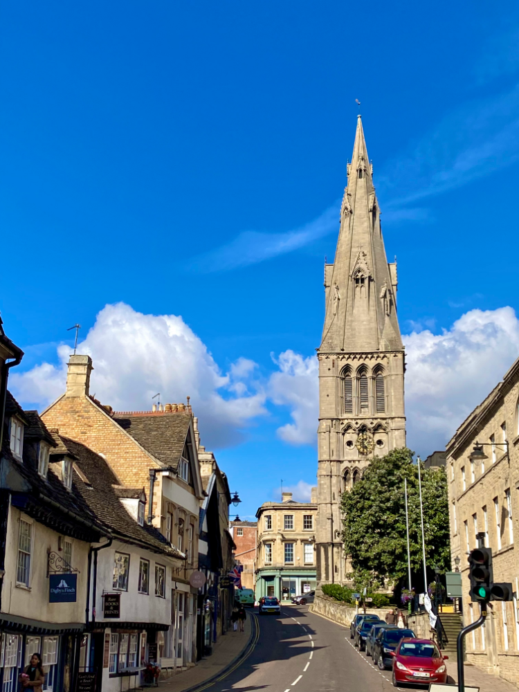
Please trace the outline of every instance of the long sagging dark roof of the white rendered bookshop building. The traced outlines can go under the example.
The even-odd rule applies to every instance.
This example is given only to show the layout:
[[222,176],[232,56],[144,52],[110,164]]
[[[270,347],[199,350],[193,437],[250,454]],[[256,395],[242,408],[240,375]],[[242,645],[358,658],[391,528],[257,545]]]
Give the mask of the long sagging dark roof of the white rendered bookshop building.
[[[82,475],[89,482],[89,484],[84,482],[80,475],[75,472],[73,479],[75,487],[84,502],[88,504],[89,509],[106,529],[131,543],[145,545],[154,552],[180,559],[185,558],[183,553],[172,546],[158,529],[146,523],[144,526],[140,526],[135,518],[129,514],[120,502],[118,493],[112,488],[113,484],[118,484],[118,480],[103,457],[80,442],[62,435],[59,437],[66,449],[75,455],[74,465],[79,467]],[[53,454],[53,450],[51,454]],[[140,497],[141,492],[142,490],[139,489],[138,497]]]

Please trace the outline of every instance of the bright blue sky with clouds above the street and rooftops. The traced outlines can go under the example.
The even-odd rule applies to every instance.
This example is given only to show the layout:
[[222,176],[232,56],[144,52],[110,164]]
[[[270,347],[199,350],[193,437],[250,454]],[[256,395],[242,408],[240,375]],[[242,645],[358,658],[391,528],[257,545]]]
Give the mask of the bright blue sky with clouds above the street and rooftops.
[[[356,98],[399,262],[410,446],[444,444],[516,358],[516,3],[8,1],[0,39],[0,309],[25,406],[60,390],[79,321],[118,373],[93,380],[106,403],[193,397],[242,514],[281,478],[315,482],[311,356]],[[175,349],[156,345],[173,323]]]

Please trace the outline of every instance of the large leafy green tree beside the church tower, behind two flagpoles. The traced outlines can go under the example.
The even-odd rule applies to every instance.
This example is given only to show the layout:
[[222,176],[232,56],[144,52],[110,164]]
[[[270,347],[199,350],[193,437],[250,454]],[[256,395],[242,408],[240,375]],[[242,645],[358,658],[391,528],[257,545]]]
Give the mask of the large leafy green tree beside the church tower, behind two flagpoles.
[[[372,459],[364,477],[343,494],[343,538],[351,556],[356,588],[379,588],[390,579],[407,586],[408,556],[404,479],[408,480],[411,570],[417,591],[424,590],[418,466],[407,448]],[[424,533],[428,576],[433,566],[450,568],[447,479],[421,465]]]

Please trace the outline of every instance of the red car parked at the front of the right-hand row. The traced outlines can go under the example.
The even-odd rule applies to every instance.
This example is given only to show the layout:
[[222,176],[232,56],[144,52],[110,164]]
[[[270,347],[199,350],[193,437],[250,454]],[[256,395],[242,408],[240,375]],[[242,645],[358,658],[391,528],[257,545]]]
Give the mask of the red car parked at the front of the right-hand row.
[[432,639],[402,639],[392,652],[393,684],[447,682],[448,656],[442,656]]

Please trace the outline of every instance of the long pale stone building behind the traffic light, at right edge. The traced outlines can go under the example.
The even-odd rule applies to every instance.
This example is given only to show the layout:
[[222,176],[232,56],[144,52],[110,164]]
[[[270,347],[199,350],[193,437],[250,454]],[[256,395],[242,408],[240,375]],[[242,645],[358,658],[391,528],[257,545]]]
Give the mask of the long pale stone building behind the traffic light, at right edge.
[[[477,444],[480,454],[473,456]],[[466,637],[467,660],[515,684],[519,682],[519,560],[514,543],[514,536],[519,536],[518,444],[519,359],[446,447],[452,567],[459,561],[464,625],[480,615],[479,605],[468,596],[466,559],[477,547],[477,534],[492,549],[494,581],[511,582],[514,592],[513,603],[490,603],[484,626]]]

